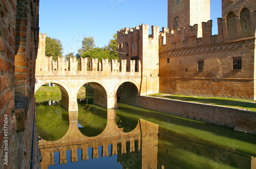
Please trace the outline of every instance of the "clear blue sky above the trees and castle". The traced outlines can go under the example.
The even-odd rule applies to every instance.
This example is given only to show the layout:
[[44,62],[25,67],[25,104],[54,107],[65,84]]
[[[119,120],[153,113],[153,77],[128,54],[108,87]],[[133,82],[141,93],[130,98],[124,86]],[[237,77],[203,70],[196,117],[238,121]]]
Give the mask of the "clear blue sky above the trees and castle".
[[[221,17],[221,0],[211,0],[213,34]],[[41,0],[40,33],[61,41],[63,55],[77,53],[83,37],[108,45],[116,31],[141,23],[167,27],[167,0]]]

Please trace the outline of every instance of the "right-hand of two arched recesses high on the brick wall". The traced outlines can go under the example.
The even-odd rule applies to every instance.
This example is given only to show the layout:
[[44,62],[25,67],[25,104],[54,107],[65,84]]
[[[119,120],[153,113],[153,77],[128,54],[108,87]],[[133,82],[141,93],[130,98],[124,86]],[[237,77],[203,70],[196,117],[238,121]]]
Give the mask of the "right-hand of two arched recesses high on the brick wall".
[[241,24],[241,35],[242,36],[250,35],[251,34],[250,11],[246,8],[241,11],[240,24]]

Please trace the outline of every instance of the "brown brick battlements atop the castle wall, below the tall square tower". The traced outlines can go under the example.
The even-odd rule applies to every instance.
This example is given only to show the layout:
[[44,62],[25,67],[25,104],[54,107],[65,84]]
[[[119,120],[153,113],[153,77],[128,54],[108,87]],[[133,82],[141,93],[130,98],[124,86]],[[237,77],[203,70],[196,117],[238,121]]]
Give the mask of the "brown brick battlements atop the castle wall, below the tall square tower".
[[223,41],[222,19],[218,18],[218,35],[212,35],[212,20],[202,22],[202,37],[198,38],[198,24],[169,30],[163,27],[159,35],[160,50],[218,43]]

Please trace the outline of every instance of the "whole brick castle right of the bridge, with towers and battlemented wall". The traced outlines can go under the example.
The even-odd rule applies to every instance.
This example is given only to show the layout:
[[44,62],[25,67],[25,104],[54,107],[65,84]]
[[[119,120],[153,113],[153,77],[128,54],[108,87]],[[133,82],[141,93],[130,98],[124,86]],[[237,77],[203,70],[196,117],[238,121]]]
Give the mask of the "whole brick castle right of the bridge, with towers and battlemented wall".
[[[222,0],[212,35],[210,0],[168,0],[168,27],[117,32],[121,59],[141,61],[159,93],[256,99],[256,2]],[[157,71],[157,73],[156,73]]]

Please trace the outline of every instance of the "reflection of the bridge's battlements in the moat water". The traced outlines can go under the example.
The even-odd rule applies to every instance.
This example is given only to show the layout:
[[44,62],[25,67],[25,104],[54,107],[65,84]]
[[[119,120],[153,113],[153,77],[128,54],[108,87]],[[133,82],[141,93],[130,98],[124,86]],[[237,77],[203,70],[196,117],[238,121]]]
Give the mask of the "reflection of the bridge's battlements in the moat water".
[[[65,147],[57,147],[52,149],[41,149],[44,153],[44,159],[41,162],[42,166],[50,166],[55,165],[55,161],[58,161],[59,164],[65,163],[67,164],[68,161],[71,162],[78,162],[80,160],[89,160],[90,158],[99,158],[99,157],[109,157],[112,155],[121,155],[125,154],[126,152],[137,152],[140,151],[141,148],[137,144],[139,143],[138,138],[135,140],[131,139],[123,139],[122,142],[118,142],[117,140],[113,140],[108,144],[105,143],[95,143],[95,144],[82,144],[82,145],[71,145]],[[136,143],[136,144],[135,144]],[[102,145],[103,144],[103,145]],[[100,145],[100,146],[99,146]],[[126,145],[129,145],[129,149],[127,149]],[[70,159],[68,159],[68,151],[70,151]],[[78,157],[78,151],[81,151],[80,158]],[[59,158],[54,159],[54,152],[59,153]]]

